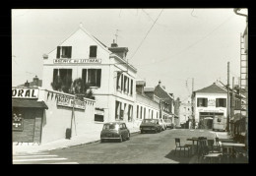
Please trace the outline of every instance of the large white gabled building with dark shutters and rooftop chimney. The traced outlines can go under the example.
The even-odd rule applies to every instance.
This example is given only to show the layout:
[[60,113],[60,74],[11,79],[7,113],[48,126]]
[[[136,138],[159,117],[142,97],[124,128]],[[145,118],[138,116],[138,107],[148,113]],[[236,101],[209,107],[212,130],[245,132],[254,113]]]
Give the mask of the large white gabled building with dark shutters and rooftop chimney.
[[[125,121],[133,124],[137,70],[128,64],[127,47],[107,47],[81,25],[48,54],[43,55],[42,87],[69,91],[76,79],[93,91],[95,122]],[[57,88],[57,87],[56,87]]]

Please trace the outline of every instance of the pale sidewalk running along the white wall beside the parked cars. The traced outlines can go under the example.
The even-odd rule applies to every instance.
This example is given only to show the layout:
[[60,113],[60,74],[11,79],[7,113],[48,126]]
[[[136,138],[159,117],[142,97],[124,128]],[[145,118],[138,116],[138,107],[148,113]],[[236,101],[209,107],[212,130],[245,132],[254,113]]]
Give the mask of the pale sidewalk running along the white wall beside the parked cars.
[[[130,128],[131,136],[132,134],[140,132],[139,128]],[[65,148],[65,147],[76,147],[91,143],[96,143],[100,141],[100,131],[101,129],[96,129],[95,131],[88,132],[81,136],[72,137],[71,140],[62,139],[55,142],[50,142],[47,144],[36,145],[36,144],[17,144],[13,143],[13,154],[25,154],[25,153],[35,153],[48,151],[53,149]]]

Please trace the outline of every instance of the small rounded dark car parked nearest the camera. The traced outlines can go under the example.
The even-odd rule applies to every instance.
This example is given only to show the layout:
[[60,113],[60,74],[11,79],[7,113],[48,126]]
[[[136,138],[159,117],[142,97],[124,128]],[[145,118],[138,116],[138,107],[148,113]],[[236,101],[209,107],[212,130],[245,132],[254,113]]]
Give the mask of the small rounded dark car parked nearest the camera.
[[100,133],[100,142],[107,140],[118,140],[122,143],[124,140],[130,140],[130,131],[124,122],[105,123]]

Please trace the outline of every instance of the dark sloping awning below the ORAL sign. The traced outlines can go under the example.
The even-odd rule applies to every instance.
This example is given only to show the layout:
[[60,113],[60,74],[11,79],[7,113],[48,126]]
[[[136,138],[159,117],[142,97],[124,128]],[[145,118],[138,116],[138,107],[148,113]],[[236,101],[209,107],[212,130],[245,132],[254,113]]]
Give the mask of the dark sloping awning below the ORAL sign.
[[44,101],[36,101],[32,99],[12,99],[13,107],[33,107],[48,109]]

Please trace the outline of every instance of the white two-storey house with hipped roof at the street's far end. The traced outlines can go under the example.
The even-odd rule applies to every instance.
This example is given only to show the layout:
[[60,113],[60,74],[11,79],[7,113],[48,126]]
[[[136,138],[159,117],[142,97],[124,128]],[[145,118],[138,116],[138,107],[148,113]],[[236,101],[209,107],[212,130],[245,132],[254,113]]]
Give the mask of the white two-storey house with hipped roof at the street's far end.
[[226,117],[227,91],[216,83],[193,91],[195,122],[201,129],[212,129],[215,115]]

